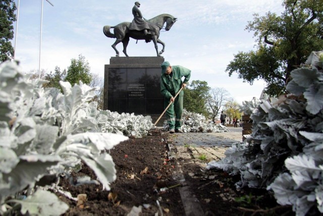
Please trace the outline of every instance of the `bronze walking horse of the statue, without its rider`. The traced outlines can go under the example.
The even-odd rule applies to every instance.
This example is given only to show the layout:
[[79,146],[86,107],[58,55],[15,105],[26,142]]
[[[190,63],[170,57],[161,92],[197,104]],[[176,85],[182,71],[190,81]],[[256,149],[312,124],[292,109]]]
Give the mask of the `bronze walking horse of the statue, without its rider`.
[[[111,45],[112,48],[116,50],[117,57],[119,57],[119,51],[117,50],[116,45],[120,42],[123,43],[123,53],[125,53],[126,57],[129,57],[127,55],[127,46],[128,46],[130,37],[137,40],[146,40],[146,42],[150,42],[152,40],[155,45],[157,56],[160,56],[161,53],[165,51],[165,43],[158,38],[160,30],[163,29],[163,26],[166,23],[165,30],[169,31],[173,26],[173,24],[176,22],[176,20],[177,18],[169,14],[160,14],[150,20],[146,20],[150,28],[150,34],[146,34],[146,35],[144,35],[143,31],[129,30],[129,26],[130,26],[129,22],[123,22],[116,26],[106,25],[103,27],[103,33],[107,37],[117,38],[116,42]],[[110,29],[112,28],[114,29],[113,30],[114,33],[110,32]],[[163,49],[161,49],[160,52],[158,52],[157,43],[160,43],[163,45]]]

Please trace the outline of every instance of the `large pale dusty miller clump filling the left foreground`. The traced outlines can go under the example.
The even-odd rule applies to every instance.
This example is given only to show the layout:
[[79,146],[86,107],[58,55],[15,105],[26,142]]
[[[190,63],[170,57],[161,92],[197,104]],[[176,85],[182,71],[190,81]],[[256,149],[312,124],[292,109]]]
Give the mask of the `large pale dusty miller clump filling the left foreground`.
[[[81,161],[110,190],[116,169],[107,150],[128,137],[101,132],[89,112],[95,88],[61,82],[62,94],[41,88],[44,81],[28,80],[19,71],[15,63],[0,65],[0,214],[17,209],[22,214],[64,213],[68,205],[37,185],[46,177],[68,176]],[[97,183],[90,178],[76,182]],[[22,194],[27,197],[21,199]]]

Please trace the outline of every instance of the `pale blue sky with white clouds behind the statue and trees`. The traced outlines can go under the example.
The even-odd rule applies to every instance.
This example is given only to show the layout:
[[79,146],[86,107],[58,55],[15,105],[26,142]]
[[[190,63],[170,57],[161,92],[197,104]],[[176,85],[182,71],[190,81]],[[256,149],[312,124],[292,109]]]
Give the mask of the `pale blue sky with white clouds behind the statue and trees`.
[[[115,57],[113,38],[102,32],[104,25],[131,22],[135,0],[43,0],[40,68],[47,72],[56,66],[67,69],[71,59],[82,54],[91,73],[104,76],[104,65]],[[239,103],[259,98],[262,81],[244,83],[237,74],[225,72],[239,51],[254,49],[253,32],[245,29],[253,14],[278,15],[284,10],[282,0],[141,0],[140,10],[146,19],[159,14],[178,18],[170,31],[161,32],[166,43],[163,57],[171,65],[192,70],[191,80],[206,81],[211,88],[223,87]],[[16,4],[18,0],[16,0]],[[24,72],[38,71],[41,0],[20,0],[16,60]],[[14,40],[13,40],[14,44]],[[159,44],[159,50],[161,49]],[[122,43],[117,45],[120,56]],[[129,56],[156,56],[152,42],[130,39]]]

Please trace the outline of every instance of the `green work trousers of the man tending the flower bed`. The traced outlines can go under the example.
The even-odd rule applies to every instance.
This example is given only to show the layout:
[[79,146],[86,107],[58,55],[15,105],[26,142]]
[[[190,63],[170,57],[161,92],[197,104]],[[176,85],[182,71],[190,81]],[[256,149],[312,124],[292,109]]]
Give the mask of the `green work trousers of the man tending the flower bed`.
[[[170,99],[164,101],[164,108],[168,106]],[[175,101],[170,105],[166,111],[166,120],[170,129],[181,129],[182,115],[183,115],[183,95],[178,95]]]

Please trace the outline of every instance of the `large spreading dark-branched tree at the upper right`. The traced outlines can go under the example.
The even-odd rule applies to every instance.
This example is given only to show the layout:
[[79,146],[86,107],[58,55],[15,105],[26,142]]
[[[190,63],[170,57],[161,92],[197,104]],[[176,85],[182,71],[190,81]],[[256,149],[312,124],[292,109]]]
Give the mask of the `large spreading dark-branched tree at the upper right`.
[[279,96],[290,81],[290,72],[305,62],[312,50],[323,48],[323,1],[285,0],[281,16],[254,14],[246,30],[254,31],[257,50],[239,52],[227,66],[251,85],[262,79],[265,92]]

